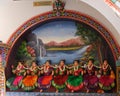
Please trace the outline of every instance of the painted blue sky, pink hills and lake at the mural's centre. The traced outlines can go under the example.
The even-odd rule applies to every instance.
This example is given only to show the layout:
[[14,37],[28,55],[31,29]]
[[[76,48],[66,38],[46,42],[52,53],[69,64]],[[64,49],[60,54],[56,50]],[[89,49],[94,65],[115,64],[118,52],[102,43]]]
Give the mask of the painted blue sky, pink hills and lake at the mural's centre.
[[72,64],[73,60],[80,59],[88,46],[75,35],[76,31],[75,23],[69,21],[52,22],[34,30],[33,34],[43,43],[38,61],[43,64],[52,60],[57,64],[65,59],[67,64]]

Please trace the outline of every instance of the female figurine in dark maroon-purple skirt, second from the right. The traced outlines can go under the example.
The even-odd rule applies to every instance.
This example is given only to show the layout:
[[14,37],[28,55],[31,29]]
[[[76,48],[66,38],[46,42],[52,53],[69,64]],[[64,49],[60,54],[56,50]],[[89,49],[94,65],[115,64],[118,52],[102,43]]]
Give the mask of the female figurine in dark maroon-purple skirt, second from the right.
[[89,59],[85,68],[84,85],[87,89],[87,93],[90,90],[96,89],[98,86],[97,71],[93,59]]

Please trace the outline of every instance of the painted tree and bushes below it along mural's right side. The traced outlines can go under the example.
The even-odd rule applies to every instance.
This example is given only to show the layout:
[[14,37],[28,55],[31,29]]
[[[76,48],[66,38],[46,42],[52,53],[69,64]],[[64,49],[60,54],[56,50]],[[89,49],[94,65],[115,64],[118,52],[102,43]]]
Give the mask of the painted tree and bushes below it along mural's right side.
[[101,45],[102,40],[99,34],[91,29],[89,26],[84,25],[82,23],[76,23],[77,32],[76,36],[82,37],[85,41],[86,45],[91,45],[90,51],[87,51],[82,59],[88,60],[90,58],[95,59],[95,63],[99,64],[102,62],[102,54],[101,54]]

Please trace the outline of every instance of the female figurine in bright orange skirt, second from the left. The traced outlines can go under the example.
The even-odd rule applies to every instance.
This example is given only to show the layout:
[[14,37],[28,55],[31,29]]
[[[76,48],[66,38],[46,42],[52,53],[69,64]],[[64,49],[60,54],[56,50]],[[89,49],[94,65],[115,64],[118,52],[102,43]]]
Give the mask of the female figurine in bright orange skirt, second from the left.
[[22,80],[22,88],[25,91],[30,91],[37,87],[37,70],[37,64],[33,61],[31,67],[27,68],[26,77]]

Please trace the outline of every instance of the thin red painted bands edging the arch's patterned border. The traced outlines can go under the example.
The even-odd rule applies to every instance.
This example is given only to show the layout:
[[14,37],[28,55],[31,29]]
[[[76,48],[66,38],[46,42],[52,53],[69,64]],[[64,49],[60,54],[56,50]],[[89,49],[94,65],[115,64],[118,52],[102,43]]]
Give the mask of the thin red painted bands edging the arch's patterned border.
[[[100,24],[97,20],[93,19],[92,17],[90,17],[90,16],[88,16],[88,15],[82,14],[82,13],[77,12],[77,11],[72,11],[72,10],[66,10],[65,12],[67,12],[67,13],[73,13],[73,14],[76,14],[76,15],[79,15],[79,16],[82,15],[82,16],[87,17],[88,19],[96,22],[97,24],[99,24],[100,26],[103,27],[103,25]],[[11,35],[11,37],[10,37],[9,40],[7,41],[7,44],[9,45],[11,39],[14,37],[14,35],[17,33],[17,31],[19,31],[19,30],[22,28],[22,26],[24,26],[25,24],[27,24],[28,22],[30,22],[31,20],[33,20],[33,19],[35,19],[35,18],[38,18],[38,17],[40,17],[40,16],[45,16],[45,15],[51,14],[51,13],[53,13],[53,11],[49,11],[49,12],[46,12],[46,13],[43,13],[43,14],[39,14],[39,15],[37,15],[37,16],[35,16],[35,17],[32,17],[31,19],[27,20],[24,24],[22,24],[22,25]],[[25,30],[23,30],[22,33],[21,33],[19,36],[17,36],[17,38],[16,38],[16,39],[14,40],[14,42],[12,43],[11,48],[10,48],[9,53],[8,53],[8,56],[7,56],[7,58],[6,58],[6,61],[8,62],[8,58],[9,58],[9,55],[10,55],[10,53],[11,53],[11,50],[12,50],[13,46],[15,45],[15,43],[17,42],[17,40],[20,38],[20,36],[23,35],[23,34],[26,32],[26,30],[28,30],[29,28],[31,28],[31,27],[33,27],[33,26],[35,26],[35,25],[37,25],[37,24],[43,23],[43,22],[45,22],[45,21],[54,20],[54,19],[60,19],[60,18],[61,18],[61,19],[62,19],[62,18],[63,18],[63,19],[65,18],[65,19],[72,19],[72,20],[80,21],[80,22],[83,22],[83,23],[91,26],[91,27],[94,28],[95,30],[97,30],[97,31],[103,36],[103,38],[106,40],[106,42],[108,43],[108,45],[110,46],[110,48],[111,48],[111,50],[112,50],[112,53],[113,53],[113,56],[114,56],[114,59],[115,59],[115,60],[118,59],[117,56],[116,56],[117,54],[114,53],[114,50],[113,50],[112,45],[110,44],[110,42],[109,42],[109,41],[107,40],[107,38],[101,33],[101,31],[99,31],[99,30],[98,30],[97,28],[95,28],[93,25],[91,25],[91,24],[89,24],[89,23],[86,23],[86,22],[84,22],[84,21],[82,21],[82,20],[80,20],[80,19],[78,19],[78,18],[75,18],[75,17],[54,16],[54,17],[51,17],[51,18],[49,18],[49,19],[47,18],[47,19],[44,19],[44,20],[39,20],[38,22],[31,24],[29,27],[27,27]],[[113,41],[115,42],[116,47],[119,48],[118,42],[117,42],[117,40],[115,39],[115,37],[111,34],[110,31],[107,30],[107,28],[105,28],[105,27],[103,27],[103,28],[110,34],[111,38],[112,38]],[[120,49],[119,49],[119,53],[120,53]]]

